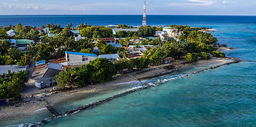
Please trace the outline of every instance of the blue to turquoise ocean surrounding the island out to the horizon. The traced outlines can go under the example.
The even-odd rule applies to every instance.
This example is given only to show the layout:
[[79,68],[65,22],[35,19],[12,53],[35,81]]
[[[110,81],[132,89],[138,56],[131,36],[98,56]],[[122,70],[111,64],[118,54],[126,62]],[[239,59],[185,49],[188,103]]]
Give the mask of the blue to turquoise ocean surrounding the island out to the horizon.
[[[89,25],[141,25],[141,15],[27,15],[0,16],[0,25],[31,25],[47,23],[73,27]],[[63,118],[49,120],[45,127],[252,127],[256,126],[256,16],[173,16],[148,15],[147,24],[205,26],[216,29],[212,34],[220,44],[235,50],[224,51],[229,57],[244,60],[221,66],[186,78],[189,74],[214,65],[182,69],[173,74],[149,79],[163,81],[159,86],[131,93],[97,107]],[[54,105],[58,112],[81,107],[117,93],[141,86],[133,82],[89,97],[77,98]],[[40,114],[1,119],[0,126],[23,126],[51,118],[48,110]]]

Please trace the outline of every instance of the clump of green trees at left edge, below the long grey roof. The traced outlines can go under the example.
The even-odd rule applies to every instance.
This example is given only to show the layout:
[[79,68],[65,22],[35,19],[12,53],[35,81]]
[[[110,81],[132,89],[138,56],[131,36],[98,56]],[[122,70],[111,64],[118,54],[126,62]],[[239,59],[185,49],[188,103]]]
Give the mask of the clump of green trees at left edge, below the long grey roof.
[[20,97],[20,92],[28,82],[27,71],[13,73],[8,70],[7,74],[0,75],[0,100]]

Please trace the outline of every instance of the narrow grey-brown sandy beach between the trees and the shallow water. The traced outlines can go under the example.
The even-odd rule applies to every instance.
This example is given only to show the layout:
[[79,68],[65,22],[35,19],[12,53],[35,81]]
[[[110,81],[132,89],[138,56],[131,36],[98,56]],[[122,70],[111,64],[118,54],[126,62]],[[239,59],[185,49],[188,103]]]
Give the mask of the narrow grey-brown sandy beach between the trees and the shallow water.
[[[213,65],[213,64],[224,64],[230,61],[229,58],[216,58],[213,57],[210,60],[200,60],[197,63],[193,64],[181,64],[182,68],[185,67],[195,67],[195,66],[204,66],[204,65]],[[186,60],[179,61],[180,63],[186,62]],[[47,112],[48,110],[44,106],[44,100],[47,99],[51,106],[56,106],[59,103],[67,102],[68,100],[74,100],[79,97],[86,98],[89,95],[96,94],[101,91],[108,91],[118,87],[125,87],[129,83],[136,81],[136,78],[148,77],[150,75],[155,75],[170,71],[166,69],[166,66],[176,64],[173,62],[171,64],[163,64],[159,66],[152,66],[147,69],[140,71],[134,71],[131,73],[117,74],[110,81],[96,83],[93,85],[85,86],[82,88],[73,89],[70,91],[57,91],[47,94],[48,97],[41,97],[42,94],[28,94],[23,95],[23,101],[12,103],[11,105],[1,106],[0,107],[0,119],[4,118],[15,118],[17,116],[29,115],[29,114],[39,114],[41,112]],[[42,90],[43,91],[43,90]],[[43,92],[41,92],[43,93]],[[42,110],[43,109],[43,110]]]

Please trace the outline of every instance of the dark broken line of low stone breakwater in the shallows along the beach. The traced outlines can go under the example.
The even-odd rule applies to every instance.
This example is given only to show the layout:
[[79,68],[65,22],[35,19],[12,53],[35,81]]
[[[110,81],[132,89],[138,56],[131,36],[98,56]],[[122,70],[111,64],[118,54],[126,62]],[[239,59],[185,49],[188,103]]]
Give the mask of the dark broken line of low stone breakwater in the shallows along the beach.
[[[215,68],[217,68],[217,67],[221,67],[221,66],[224,66],[224,65],[230,65],[230,64],[234,64],[234,63],[238,63],[238,62],[240,62],[240,61],[239,61],[239,60],[236,60],[236,61],[228,62],[228,63],[222,64],[222,65],[217,65],[217,66],[209,67],[209,68],[207,68],[207,69],[199,70],[199,71],[193,72],[193,73],[191,73],[191,74],[184,75],[184,77],[188,77],[188,76],[190,76],[190,75],[192,75],[192,74],[200,73],[200,72],[205,71],[205,70],[211,70],[211,69],[215,69]],[[166,75],[166,74],[173,73],[174,71],[176,71],[176,70],[172,70],[172,71],[168,71],[168,72],[166,72],[166,73],[156,74],[156,75],[152,75],[152,76],[145,77],[145,78],[140,78],[140,79],[148,79],[148,78],[159,77],[159,76],[161,76],[161,75]],[[183,78],[183,77],[181,77],[181,78]],[[140,80],[140,79],[138,79],[138,80]],[[107,98],[107,99],[104,99],[104,100],[101,100],[101,101],[98,101],[98,102],[95,102],[95,103],[91,103],[91,104],[89,104],[89,105],[85,105],[85,106],[82,106],[82,107],[79,107],[79,108],[76,108],[76,109],[73,109],[73,110],[66,111],[66,112],[64,112],[64,113],[62,113],[62,114],[53,114],[53,115],[54,115],[54,118],[59,118],[59,117],[62,117],[62,116],[67,116],[67,115],[69,115],[69,114],[73,114],[73,113],[78,112],[78,111],[80,111],[80,110],[85,110],[85,109],[88,109],[88,108],[96,107],[96,106],[98,106],[98,105],[100,105],[100,104],[103,104],[103,103],[105,103],[105,102],[107,102],[107,101],[110,101],[110,100],[112,100],[112,99],[114,99],[114,98],[117,98],[117,97],[120,97],[120,96],[124,96],[124,95],[127,95],[127,94],[129,94],[129,93],[133,93],[133,92],[135,92],[135,91],[140,91],[140,90],[148,89],[148,88],[150,88],[150,87],[153,87],[153,86],[156,86],[156,85],[157,85],[157,83],[155,83],[155,84],[143,83],[143,84],[144,84],[144,87],[140,87],[140,88],[137,88],[137,89],[133,89],[133,90],[130,90],[130,91],[126,91],[126,92],[124,92],[124,93],[114,95],[114,96],[109,97],[109,98]],[[161,84],[161,82],[159,82],[158,84]],[[43,121],[41,121],[41,122],[37,122],[37,123],[34,123],[34,124],[29,124],[29,125],[27,125],[26,127],[39,126],[39,125],[44,124],[44,123],[47,123],[47,120],[43,120]]]

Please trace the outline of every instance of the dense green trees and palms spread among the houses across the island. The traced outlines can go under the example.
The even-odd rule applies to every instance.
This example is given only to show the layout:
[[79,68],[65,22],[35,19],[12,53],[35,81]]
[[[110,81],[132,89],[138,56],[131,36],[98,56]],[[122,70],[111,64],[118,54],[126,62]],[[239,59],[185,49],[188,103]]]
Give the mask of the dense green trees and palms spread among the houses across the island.
[[[31,44],[29,50],[26,53],[21,52],[15,47],[10,47],[10,43],[6,40],[0,41],[0,65],[27,65],[33,58],[34,61],[49,60],[53,58],[63,57],[65,51],[93,53],[93,48],[98,47],[100,49],[99,54],[113,54],[117,53],[123,60],[116,61],[112,64],[107,59],[97,58],[94,61],[90,61],[89,64],[73,69],[65,69],[61,71],[59,75],[56,75],[56,81],[60,87],[66,86],[84,86],[91,82],[103,82],[111,79],[113,75],[120,71],[132,71],[134,69],[141,70],[147,68],[149,65],[158,65],[166,60],[185,58],[189,62],[196,62],[197,57],[202,59],[209,59],[210,55],[215,57],[225,57],[224,53],[216,52],[217,48],[214,48],[217,44],[217,39],[212,36],[211,33],[204,33],[199,31],[205,28],[191,28],[189,26],[171,25],[171,27],[182,31],[183,34],[178,36],[179,41],[175,38],[169,38],[168,41],[162,41],[160,37],[156,39],[147,38],[140,40],[138,44],[132,44],[131,39],[139,39],[139,37],[153,36],[156,31],[163,30],[161,27],[156,26],[140,26],[137,32],[119,31],[117,34],[112,34],[112,29],[104,26],[88,25],[86,22],[72,28],[72,24],[69,23],[65,27],[61,27],[56,24],[42,25],[41,29],[49,28],[51,33],[55,33],[54,37],[48,37],[45,32],[39,34],[34,30],[36,27],[23,26],[17,24],[17,26],[0,26],[0,38],[1,39],[31,39],[35,40],[36,44]],[[125,24],[120,24],[115,28],[133,28]],[[9,37],[6,31],[13,29],[17,32],[16,36]],[[79,30],[81,36],[85,37],[79,41],[75,41],[74,34],[71,30]],[[39,41],[39,36],[44,36]],[[119,39],[117,43],[122,46],[129,45],[155,45],[153,48],[147,48],[143,52],[143,56],[136,59],[126,59],[129,56],[128,51],[122,47],[114,47],[113,45],[107,45],[104,41],[100,40],[96,44],[92,44],[92,41],[97,38],[116,37],[125,38]],[[167,59],[168,58],[168,59]],[[8,83],[15,82],[4,81],[3,87]],[[25,82],[25,81],[24,81]],[[13,85],[10,85],[13,86]],[[5,89],[5,88],[4,88]],[[16,89],[13,86],[12,89]],[[5,89],[7,90],[7,89]],[[16,97],[10,96],[8,97]]]

